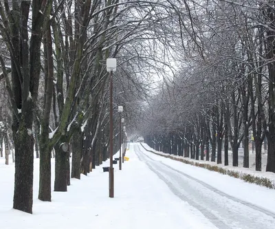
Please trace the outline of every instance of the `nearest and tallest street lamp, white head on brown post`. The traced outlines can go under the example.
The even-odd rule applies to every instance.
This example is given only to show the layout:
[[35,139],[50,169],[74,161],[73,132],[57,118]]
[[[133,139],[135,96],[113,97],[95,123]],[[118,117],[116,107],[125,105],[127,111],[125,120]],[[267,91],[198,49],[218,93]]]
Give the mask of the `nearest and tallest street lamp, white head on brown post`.
[[116,59],[107,58],[107,72],[110,73],[110,168],[109,168],[109,197],[113,198],[113,72],[116,70]]

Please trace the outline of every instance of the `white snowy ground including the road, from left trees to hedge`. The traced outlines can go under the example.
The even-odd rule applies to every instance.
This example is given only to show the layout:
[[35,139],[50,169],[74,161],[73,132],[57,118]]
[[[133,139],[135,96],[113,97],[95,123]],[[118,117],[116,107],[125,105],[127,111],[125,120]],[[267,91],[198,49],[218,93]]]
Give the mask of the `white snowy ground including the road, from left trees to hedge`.
[[72,179],[67,193],[52,192],[52,202],[39,201],[34,160],[33,215],[12,209],[14,164],[5,166],[1,158],[0,228],[274,228],[275,190],[148,153],[136,143],[126,155],[122,171],[114,164],[113,199],[99,166]]

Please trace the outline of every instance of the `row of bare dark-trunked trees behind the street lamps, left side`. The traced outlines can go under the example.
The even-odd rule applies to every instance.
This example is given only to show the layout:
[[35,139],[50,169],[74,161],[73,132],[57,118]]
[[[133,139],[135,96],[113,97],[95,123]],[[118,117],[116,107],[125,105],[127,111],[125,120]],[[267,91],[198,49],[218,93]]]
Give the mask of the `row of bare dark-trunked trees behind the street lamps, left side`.
[[[14,208],[32,212],[34,153],[40,159],[43,201],[51,201],[53,149],[55,191],[66,191],[70,177],[80,179],[80,173],[86,175],[107,159],[106,58],[118,59],[113,107],[123,105],[130,123],[149,94],[148,78],[164,74],[168,47],[174,40],[184,46],[186,34],[197,41],[184,3],[0,1],[0,79],[12,111],[12,120],[4,124],[10,123],[15,152]],[[118,123],[118,116],[114,121]]]

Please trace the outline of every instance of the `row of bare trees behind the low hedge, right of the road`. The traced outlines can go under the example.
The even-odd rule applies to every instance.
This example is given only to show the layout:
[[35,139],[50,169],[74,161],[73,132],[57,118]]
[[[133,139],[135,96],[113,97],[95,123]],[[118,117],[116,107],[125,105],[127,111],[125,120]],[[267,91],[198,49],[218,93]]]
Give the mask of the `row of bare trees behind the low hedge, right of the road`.
[[180,71],[166,79],[147,110],[146,141],[197,160],[206,151],[206,160],[225,165],[230,142],[233,166],[239,164],[243,142],[248,168],[252,139],[256,171],[261,171],[266,138],[266,171],[274,173],[274,1],[207,1],[194,9],[190,14],[199,25],[194,36],[201,50],[186,47],[189,52],[179,54]]

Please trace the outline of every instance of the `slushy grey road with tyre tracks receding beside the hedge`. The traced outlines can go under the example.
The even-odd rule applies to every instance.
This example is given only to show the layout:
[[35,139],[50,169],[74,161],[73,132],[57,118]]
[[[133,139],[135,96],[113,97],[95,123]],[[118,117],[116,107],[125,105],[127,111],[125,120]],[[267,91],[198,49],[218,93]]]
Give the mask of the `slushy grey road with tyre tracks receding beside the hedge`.
[[[162,159],[159,160],[158,156],[146,152],[139,144],[133,146],[140,160],[167,184],[172,193],[181,201],[186,201],[199,210],[217,228],[274,228],[274,212],[223,193],[195,177],[164,164]],[[214,175],[216,174],[213,173],[213,178]]]

